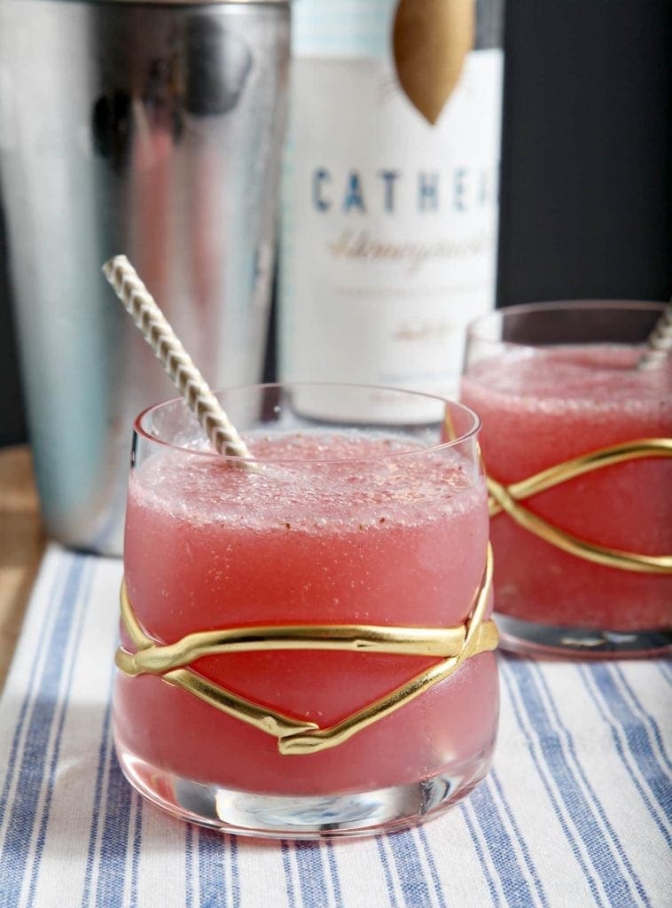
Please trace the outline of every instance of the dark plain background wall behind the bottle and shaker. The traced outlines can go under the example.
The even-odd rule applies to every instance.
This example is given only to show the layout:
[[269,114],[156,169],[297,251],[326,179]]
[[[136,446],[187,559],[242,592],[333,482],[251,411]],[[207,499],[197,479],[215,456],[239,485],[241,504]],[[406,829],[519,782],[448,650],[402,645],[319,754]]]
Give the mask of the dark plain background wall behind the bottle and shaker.
[[[671,83],[670,0],[508,0],[499,305],[669,297]],[[0,218],[0,444],[25,439],[9,297]]]

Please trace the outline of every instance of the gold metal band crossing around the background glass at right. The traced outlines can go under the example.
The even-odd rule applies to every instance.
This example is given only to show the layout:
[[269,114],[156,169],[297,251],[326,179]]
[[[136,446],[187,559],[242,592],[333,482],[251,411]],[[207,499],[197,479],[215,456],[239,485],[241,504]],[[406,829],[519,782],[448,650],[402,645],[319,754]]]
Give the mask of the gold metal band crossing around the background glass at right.
[[596,469],[604,469],[629,460],[669,457],[672,457],[672,439],[637,439],[565,460],[564,463],[544,469],[529,479],[522,479],[509,486],[504,486],[489,476],[490,517],[505,511],[520,527],[544,539],[551,546],[561,548],[577,558],[606,565],[608,568],[636,571],[640,574],[672,574],[672,555],[640,555],[637,552],[599,546],[554,527],[548,520],[540,518],[519,504],[532,495]]

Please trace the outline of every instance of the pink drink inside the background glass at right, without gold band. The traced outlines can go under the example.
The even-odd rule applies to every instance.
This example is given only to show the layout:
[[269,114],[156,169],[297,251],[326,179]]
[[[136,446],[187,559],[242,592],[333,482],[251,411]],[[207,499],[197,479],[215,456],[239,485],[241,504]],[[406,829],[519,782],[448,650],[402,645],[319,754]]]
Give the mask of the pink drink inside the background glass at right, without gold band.
[[[539,322],[548,318],[543,309],[536,315]],[[507,313],[500,318],[506,320]],[[589,341],[586,313],[573,314],[576,330],[586,331]],[[474,331],[479,331],[478,323]],[[494,355],[487,355],[488,343],[482,342],[480,356],[468,360],[461,399],[482,420],[489,475],[508,486],[600,448],[669,439],[672,364],[668,360],[660,369],[638,371],[642,349],[589,342],[536,349],[501,343]],[[520,503],[555,527],[600,546],[642,555],[672,553],[670,459],[614,464]],[[627,649],[631,637],[642,631],[654,632],[654,648],[664,645],[672,624],[672,574],[637,573],[583,560],[531,534],[503,512],[492,518],[491,538],[498,615],[572,632],[616,632],[607,641],[609,650],[614,641]],[[530,648],[515,639],[516,625],[502,622],[505,644]],[[588,634],[586,648],[599,651],[604,639]],[[539,629],[529,642],[531,648],[563,645]]]

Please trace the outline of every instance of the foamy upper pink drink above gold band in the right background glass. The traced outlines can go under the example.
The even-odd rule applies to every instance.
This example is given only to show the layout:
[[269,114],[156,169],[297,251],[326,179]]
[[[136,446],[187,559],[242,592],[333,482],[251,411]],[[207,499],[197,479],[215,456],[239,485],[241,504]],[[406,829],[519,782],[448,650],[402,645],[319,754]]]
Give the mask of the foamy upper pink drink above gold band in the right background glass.
[[505,350],[472,364],[461,397],[483,420],[497,479],[525,479],[563,459],[672,426],[672,363],[637,371],[641,348],[618,345]]

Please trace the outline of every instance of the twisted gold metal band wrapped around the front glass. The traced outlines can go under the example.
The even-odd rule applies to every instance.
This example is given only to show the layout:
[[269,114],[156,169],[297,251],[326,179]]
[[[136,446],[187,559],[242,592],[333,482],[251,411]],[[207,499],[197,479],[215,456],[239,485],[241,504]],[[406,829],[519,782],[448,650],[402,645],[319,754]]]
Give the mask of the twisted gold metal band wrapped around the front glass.
[[[160,646],[140,626],[126,592],[121,588],[122,622],[137,647],[135,653],[123,646],[115,662],[127,676],[156,675],[170,685],[198,697],[216,709],[278,739],[281,754],[312,754],[347,741],[383,716],[399,709],[430,687],[453,675],[470,656],[495,649],[497,628],[484,621],[492,586],[492,551],[488,547],[483,576],[469,617],[458,627],[385,627],[375,625],[287,625],[284,627],[230,627],[225,630],[188,634],[176,643]],[[267,706],[233,694],[196,674],[188,666],[202,656],[277,649],[335,649],[403,656],[437,656],[441,661],[410,678],[405,684],[357,710],[336,725],[321,728],[314,722],[284,716]]]

